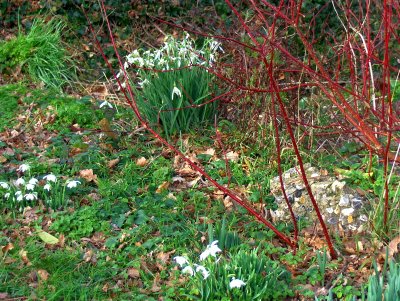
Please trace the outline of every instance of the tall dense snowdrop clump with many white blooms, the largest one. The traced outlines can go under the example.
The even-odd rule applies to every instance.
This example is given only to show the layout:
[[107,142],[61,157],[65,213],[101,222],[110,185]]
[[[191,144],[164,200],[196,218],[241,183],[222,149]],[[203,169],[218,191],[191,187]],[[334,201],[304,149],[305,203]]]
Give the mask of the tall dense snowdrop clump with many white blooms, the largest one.
[[135,50],[126,57],[124,68],[135,67],[132,86],[141,113],[151,124],[161,125],[167,137],[213,120],[217,102],[210,102],[214,76],[207,68],[221,50],[212,39],[197,49],[186,34],[182,40],[167,36],[160,49]]

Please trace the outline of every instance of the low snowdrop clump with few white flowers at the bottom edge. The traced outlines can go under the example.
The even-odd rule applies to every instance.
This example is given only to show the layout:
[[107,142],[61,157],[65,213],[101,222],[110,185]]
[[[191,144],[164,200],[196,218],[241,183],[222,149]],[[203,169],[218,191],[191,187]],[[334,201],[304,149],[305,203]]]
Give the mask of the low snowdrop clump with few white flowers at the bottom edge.
[[217,244],[213,241],[200,254],[202,265],[184,256],[174,258],[182,273],[190,276],[189,300],[282,300],[293,295],[291,275],[278,262],[258,249],[240,249],[217,258],[222,252]]

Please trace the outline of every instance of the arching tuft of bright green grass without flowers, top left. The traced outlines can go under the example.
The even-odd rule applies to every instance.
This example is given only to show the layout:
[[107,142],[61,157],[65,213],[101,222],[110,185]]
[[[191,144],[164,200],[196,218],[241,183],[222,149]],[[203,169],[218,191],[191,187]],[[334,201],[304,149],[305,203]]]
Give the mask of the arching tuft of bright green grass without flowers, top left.
[[61,89],[75,76],[75,68],[61,43],[63,22],[36,19],[27,34],[0,42],[0,73],[23,73],[46,86]]

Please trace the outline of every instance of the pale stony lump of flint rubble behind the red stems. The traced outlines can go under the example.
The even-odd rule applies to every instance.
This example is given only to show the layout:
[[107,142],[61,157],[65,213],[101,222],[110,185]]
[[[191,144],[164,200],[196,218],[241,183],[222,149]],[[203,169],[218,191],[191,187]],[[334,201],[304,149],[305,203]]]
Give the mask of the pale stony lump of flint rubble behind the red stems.
[[[343,179],[321,173],[310,164],[305,164],[304,169],[326,224],[332,228],[340,226],[345,231],[363,231],[368,221],[367,200],[350,188]],[[282,178],[296,218],[316,221],[317,216],[303,183],[300,168],[287,170]],[[290,221],[279,177],[270,181],[270,188],[278,206],[277,210],[270,210],[273,220]]]

